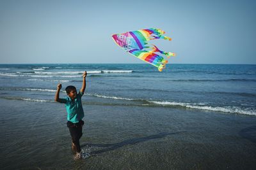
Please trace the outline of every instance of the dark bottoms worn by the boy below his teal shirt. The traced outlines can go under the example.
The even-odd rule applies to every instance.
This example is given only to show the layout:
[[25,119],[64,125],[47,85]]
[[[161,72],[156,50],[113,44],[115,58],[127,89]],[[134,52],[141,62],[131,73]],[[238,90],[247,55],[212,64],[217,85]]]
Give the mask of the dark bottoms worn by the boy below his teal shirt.
[[78,123],[72,123],[70,121],[67,122],[67,127],[69,129],[72,142],[76,145],[77,152],[81,152],[79,139],[83,135],[82,127],[84,125],[84,121],[80,120]]

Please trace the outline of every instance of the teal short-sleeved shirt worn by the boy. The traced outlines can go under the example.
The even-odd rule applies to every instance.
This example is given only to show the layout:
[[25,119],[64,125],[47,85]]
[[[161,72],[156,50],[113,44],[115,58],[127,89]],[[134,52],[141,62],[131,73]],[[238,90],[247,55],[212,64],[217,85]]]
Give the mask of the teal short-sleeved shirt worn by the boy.
[[61,103],[65,103],[67,109],[67,120],[72,123],[77,123],[84,117],[84,110],[81,100],[82,96],[83,93],[79,91],[74,101],[72,101],[70,97],[61,99]]

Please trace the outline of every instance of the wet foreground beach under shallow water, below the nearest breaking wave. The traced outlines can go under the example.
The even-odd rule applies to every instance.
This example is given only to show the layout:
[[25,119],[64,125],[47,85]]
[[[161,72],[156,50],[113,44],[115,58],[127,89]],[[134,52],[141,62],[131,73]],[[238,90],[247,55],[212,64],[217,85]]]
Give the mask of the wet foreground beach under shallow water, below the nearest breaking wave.
[[88,104],[81,146],[90,156],[74,160],[65,109],[58,103],[0,101],[3,113],[13,110],[1,114],[3,169],[256,167],[252,116]]

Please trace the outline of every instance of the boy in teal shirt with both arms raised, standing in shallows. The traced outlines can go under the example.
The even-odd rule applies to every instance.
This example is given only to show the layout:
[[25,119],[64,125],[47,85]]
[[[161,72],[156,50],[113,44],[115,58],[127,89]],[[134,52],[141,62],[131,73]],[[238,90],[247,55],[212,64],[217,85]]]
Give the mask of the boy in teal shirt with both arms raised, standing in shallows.
[[66,87],[67,96],[65,99],[60,98],[60,89],[61,89],[61,83],[57,86],[57,91],[55,95],[55,101],[58,103],[65,103],[66,109],[67,109],[67,127],[70,131],[70,135],[72,138],[72,145],[71,148],[74,153],[76,153],[75,158],[79,159],[81,158],[81,148],[79,139],[83,135],[82,133],[82,127],[83,127],[83,120],[84,117],[84,111],[82,106],[81,97],[84,94],[84,90],[86,87],[86,71],[83,73],[83,85],[79,93],[77,94],[76,87],[69,85]]

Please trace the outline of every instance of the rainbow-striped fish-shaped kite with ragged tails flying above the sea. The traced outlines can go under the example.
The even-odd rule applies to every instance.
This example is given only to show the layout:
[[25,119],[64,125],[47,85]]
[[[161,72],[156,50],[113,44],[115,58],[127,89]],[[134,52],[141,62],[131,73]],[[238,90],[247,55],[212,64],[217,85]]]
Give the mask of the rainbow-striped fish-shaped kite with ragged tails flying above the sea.
[[[113,34],[112,38],[114,39],[115,43],[123,48],[126,52],[129,52],[131,55],[134,55],[135,57],[156,66],[159,71],[163,71],[168,60],[156,54],[156,52],[166,55],[168,59],[170,56],[175,56],[175,53],[163,52],[155,45],[149,45],[147,41],[160,38],[171,41],[172,38],[163,36],[164,33],[165,32],[161,29],[151,28],[129,31],[121,34]],[[145,48],[148,48],[148,50],[145,50]]]

